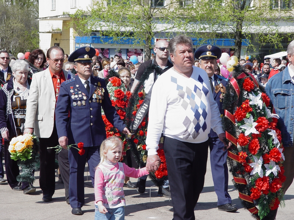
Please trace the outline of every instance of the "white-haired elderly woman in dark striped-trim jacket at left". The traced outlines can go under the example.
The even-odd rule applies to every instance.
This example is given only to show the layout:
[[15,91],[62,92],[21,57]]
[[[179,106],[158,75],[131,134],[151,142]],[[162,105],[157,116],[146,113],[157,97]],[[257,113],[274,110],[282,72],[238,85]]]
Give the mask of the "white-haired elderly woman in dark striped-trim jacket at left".
[[11,189],[24,191],[29,194],[36,191],[28,182],[19,182],[16,177],[19,175],[17,161],[11,160],[8,151],[9,142],[12,138],[22,135],[26,120],[26,100],[29,96],[30,82],[27,79],[29,65],[24,60],[15,60],[11,63],[13,77],[4,84],[0,90],[0,132],[4,138],[4,157],[7,182]]

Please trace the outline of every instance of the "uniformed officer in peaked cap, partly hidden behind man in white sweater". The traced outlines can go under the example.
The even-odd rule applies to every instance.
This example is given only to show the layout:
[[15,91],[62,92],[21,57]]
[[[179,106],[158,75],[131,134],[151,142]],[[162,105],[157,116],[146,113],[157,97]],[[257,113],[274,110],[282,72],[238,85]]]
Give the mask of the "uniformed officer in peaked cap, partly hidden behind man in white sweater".
[[[200,68],[205,70],[209,77],[213,98],[218,104],[218,109],[222,116],[224,114],[223,95],[225,94],[228,80],[223,76],[214,74],[217,65],[216,60],[220,58],[221,54],[220,48],[213,45],[203,45],[195,51],[195,58],[199,59]],[[228,150],[223,151],[225,146],[212,129],[208,137],[212,179],[216,195],[218,196],[218,210],[237,211],[237,207],[232,206],[232,199],[228,193]]]

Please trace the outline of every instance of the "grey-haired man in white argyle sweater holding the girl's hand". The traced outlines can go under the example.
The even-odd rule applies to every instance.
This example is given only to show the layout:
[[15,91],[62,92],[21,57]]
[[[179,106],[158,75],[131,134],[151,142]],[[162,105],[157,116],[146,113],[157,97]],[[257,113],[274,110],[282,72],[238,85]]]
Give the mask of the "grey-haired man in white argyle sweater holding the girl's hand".
[[168,46],[173,67],[153,85],[149,109],[147,170],[157,170],[156,153],[163,131],[164,153],[173,202],[173,220],[195,219],[194,207],[204,185],[208,133],[212,128],[225,147],[218,105],[207,73],[193,66],[191,38],[173,38]]

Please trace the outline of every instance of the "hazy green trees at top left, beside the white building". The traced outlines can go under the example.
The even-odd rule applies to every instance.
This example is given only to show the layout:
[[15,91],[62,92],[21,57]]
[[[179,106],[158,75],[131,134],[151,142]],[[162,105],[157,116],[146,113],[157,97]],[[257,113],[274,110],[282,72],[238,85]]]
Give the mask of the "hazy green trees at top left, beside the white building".
[[0,48],[9,53],[39,48],[38,0],[0,0]]

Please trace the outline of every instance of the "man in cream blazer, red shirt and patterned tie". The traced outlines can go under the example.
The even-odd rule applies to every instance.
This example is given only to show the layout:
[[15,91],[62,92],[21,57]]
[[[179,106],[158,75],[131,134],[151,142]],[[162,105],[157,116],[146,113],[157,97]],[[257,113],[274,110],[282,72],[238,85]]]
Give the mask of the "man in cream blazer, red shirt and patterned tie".
[[[24,133],[34,133],[40,140],[40,188],[43,201],[49,202],[55,192],[55,147],[59,145],[55,123],[55,106],[60,84],[71,78],[62,70],[64,51],[54,46],[47,51],[49,67],[32,76],[30,95],[27,99]],[[57,88],[57,89],[56,89]],[[56,92],[57,91],[57,92]],[[58,155],[59,170],[64,181],[66,202],[69,203],[69,161],[68,151],[62,149]]]

